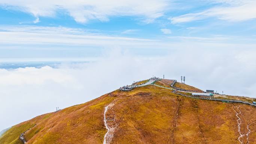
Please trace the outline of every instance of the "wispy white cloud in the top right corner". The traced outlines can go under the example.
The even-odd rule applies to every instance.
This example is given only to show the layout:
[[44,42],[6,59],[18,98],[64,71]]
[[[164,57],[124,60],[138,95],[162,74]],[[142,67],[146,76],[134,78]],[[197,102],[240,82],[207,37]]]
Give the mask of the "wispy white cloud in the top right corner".
[[214,0],[217,3],[227,3],[229,6],[216,6],[197,13],[188,13],[169,18],[172,24],[197,21],[216,17],[225,21],[247,21],[256,18],[255,0]]

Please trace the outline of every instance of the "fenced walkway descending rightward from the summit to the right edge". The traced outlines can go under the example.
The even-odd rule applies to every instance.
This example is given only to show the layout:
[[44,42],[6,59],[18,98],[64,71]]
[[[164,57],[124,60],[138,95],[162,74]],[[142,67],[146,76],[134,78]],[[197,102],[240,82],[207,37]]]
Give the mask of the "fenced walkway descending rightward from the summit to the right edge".
[[[151,84],[151,85],[158,86],[158,87],[165,88],[165,89],[174,90],[173,92],[175,94],[179,94],[179,93],[176,93],[176,91],[177,91],[176,89],[171,89],[171,88],[167,88],[167,87],[159,86],[159,85],[155,85],[155,84]],[[192,93],[192,92],[187,92],[187,91],[179,91],[179,92]],[[219,99],[219,98],[200,98],[200,97],[184,95],[184,94],[179,94],[179,95],[187,96],[187,97],[190,97],[190,98],[196,98],[196,99],[207,99],[207,100],[211,100],[211,101],[222,101],[222,102],[237,102],[237,103],[242,103],[242,104],[248,104],[248,105],[251,105],[251,106],[256,106],[256,104],[252,104],[252,103],[246,102],[246,101],[238,101],[238,100],[231,100],[231,99],[230,100],[229,99]]]

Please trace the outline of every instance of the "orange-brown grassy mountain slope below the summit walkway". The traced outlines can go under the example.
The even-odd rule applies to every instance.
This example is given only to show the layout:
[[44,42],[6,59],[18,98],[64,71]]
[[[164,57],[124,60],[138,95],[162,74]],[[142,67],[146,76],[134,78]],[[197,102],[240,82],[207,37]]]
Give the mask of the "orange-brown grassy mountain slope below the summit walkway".
[[[153,85],[117,90],[35,117],[9,129],[0,144],[21,143],[19,135],[30,128],[27,144],[102,144],[104,107],[110,103],[106,118],[115,128],[111,144],[240,144],[237,113],[241,134],[248,126],[248,140],[256,144],[255,107],[188,98]],[[240,140],[247,143],[247,136]]]

